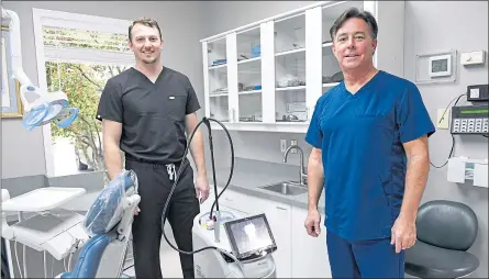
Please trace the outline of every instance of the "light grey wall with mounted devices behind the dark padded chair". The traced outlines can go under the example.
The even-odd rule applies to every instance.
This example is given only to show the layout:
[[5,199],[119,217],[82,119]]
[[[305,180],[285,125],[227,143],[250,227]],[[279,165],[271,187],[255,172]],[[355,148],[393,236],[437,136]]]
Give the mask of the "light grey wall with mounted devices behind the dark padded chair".
[[[488,52],[487,1],[409,1],[405,4],[404,72],[414,79],[414,57],[420,53],[486,51]],[[381,26],[380,26],[380,33]],[[473,33],[474,32],[474,33]],[[470,34],[471,33],[471,34]],[[467,86],[488,83],[488,62],[484,67],[465,68],[458,64],[455,83],[419,86],[423,100],[436,121],[436,109],[445,109],[452,99],[466,92]],[[464,98],[460,100],[465,100]],[[465,101],[462,104],[466,103]],[[458,105],[458,104],[457,104]],[[482,136],[456,136],[454,156],[488,157],[488,140]],[[430,140],[434,165],[443,165],[452,147],[448,130],[437,130]],[[470,249],[480,267],[470,277],[488,277],[488,189],[471,183],[446,181],[446,167],[432,168],[423,202],[447,199],[468,204],[479,219],[479,233]]]

